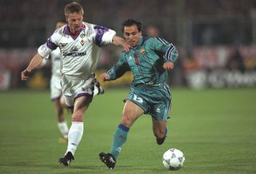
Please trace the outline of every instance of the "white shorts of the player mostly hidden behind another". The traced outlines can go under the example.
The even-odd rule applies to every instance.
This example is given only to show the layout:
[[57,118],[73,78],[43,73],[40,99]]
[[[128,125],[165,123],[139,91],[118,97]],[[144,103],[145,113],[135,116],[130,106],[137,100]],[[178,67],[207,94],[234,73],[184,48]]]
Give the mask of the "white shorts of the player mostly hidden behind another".
[[61,77],[57,75],[52,75],[50,77],[50,99],[51,101],[55,101],[62,96],[62,85],[61,85]]

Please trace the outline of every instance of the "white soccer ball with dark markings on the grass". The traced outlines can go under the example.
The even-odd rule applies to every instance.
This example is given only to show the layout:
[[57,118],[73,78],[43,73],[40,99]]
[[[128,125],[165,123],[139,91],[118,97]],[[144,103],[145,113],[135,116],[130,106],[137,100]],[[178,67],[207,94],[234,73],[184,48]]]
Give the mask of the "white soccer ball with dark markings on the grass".
[[182,151],[177,148],[168,149],[162,156],[162,164],[170,170],[178,170],[182,168],[185,156]]

